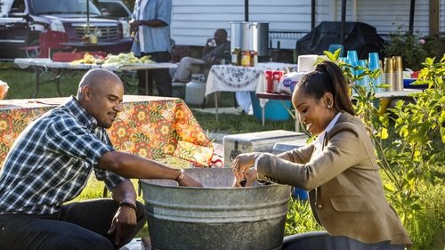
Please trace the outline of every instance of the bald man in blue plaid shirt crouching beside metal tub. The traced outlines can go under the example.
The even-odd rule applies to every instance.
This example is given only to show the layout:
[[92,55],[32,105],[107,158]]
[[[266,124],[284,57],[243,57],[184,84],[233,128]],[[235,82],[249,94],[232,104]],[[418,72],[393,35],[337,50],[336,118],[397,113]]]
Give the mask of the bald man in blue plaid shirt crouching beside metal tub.
[[[122,109],[123,94],[117,75],[90,70],[76,98],[20,134],[0,173],[0,249],[119,248],[145,223],[127,178],[201,186],[179,169],[113,149],[106,129]],[[112,199],[65,204],[84,189],[92,171]]]

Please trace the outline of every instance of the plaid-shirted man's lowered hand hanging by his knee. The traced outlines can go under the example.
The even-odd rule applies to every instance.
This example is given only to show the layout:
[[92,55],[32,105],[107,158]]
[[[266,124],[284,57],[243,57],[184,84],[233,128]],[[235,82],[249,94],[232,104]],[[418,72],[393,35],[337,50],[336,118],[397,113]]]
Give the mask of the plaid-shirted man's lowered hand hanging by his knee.
[[121,238],[132,233],[136,227],[136,211],[130,206],[120,206],[114,215],[108,234],[115,233],[114,243],[118,245]]

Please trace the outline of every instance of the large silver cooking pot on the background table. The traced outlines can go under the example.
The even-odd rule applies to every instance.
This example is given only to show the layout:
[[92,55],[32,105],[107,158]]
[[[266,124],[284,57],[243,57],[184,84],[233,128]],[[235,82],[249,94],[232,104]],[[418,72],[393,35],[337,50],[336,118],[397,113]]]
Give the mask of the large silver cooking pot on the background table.
[[258,56],[269,53],[268,22],[231,21],[231,50],[239,47],[241,51],[255,51]]

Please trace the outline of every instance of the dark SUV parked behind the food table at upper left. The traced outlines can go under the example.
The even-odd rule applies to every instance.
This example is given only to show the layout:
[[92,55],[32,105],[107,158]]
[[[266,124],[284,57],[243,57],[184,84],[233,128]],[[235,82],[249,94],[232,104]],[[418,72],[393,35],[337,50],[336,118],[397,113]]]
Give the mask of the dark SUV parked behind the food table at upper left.
[[[100,42],[113,42],[107,52],[129,52],[133,38],[127,20],[105,18],[89,0],[2,0],[0,58],[25,57],[20,48],[39,44],[39,34],[57,30],[69,42],[83,41],[87,27]],[[86,4],[89,16],[86,14]],[[87,25],[89,20],[89,26]]]

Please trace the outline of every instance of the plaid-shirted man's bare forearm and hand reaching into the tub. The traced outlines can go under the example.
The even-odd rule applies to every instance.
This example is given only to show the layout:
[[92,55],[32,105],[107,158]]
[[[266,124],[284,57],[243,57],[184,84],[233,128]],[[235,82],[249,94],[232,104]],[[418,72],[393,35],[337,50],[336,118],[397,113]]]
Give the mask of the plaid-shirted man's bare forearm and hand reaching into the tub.
[[[182,175],[180,169],[159,164],[145,157],[119,151],[109,151],[103,154],[99,159],[99,167],[126,178],[171,179],[178,181],[178,177]],[[187,173],[178,183],[182,186],[201,187],[201,184]]]

